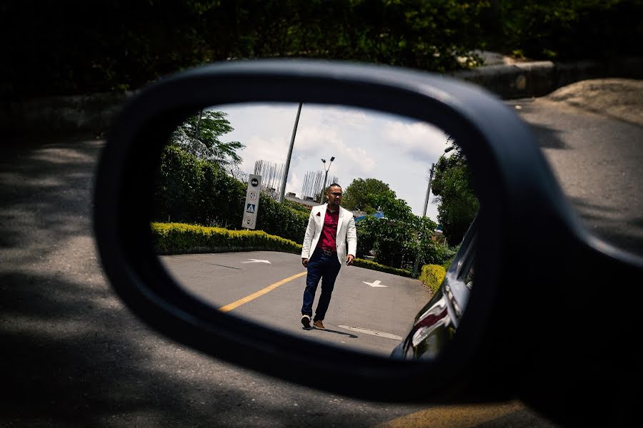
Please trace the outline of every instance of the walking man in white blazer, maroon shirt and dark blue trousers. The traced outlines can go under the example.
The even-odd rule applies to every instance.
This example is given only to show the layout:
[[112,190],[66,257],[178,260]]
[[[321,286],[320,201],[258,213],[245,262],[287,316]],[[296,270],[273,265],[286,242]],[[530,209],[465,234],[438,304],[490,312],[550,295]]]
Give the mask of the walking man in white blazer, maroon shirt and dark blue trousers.
[[324,205],[311,209],[301,248],[301,264],[308,268],[304,305],[301,307],[301,324],[306,328],[310,327],[319,280],[321,295],[312,321],[314,327],[324,328],[322,321],[328,310],[339,268],[344,263],[352,265],[357,252],[357,230],[353,214],[339,206],[342,203],[342,187],[337,183],[329,185],[327,199],[328,202]]

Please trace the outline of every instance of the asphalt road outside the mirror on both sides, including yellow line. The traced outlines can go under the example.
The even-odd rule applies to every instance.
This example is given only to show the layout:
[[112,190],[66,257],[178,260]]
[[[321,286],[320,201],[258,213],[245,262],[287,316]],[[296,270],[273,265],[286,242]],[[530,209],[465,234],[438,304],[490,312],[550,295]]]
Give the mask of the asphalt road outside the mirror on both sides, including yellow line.
[[[606,195],[586,179],[596,165],[615,178],[619,175],[609,171],[625,169],[627,174],[632,163],[641,165],[640,144],[633,144],[631,151],[627,144],[642,141],[643,128],[572,110],[562,102],[519,103],[547,158],[561,165],[557,174],[569,181],[563,183],[564,190],[592,207],[584,221],[592,225],[596,218],[598,233],[616,230],[616,242],[640,248],[629,231],[638,233],[641,210],[628,209],[640,203],[640,175],[612,188],[618,193],[629,183],[632,193],[624,199]],[[46,139],[0,149],[0,426],[552,426],[519,403],[427,407],[349,399],[256,374],[169,342],[126,310],[97,262],[90,211],[92,174],[102,142]],[[618,147],[621,156],[610,155],[606,162],[605,152],[587,153],[604,141]],[[593,158],[587,165],[594,166],[579,170],[585,173],[580,178],[567,169],[577,165],[574,153]],[[582,203],[576,205],[582,208]],[[594,211],[596,207],[605,209]],[[619,220],[619,215],[627,220]],[[618,228],[621,223],[627,223],[623,230]]]

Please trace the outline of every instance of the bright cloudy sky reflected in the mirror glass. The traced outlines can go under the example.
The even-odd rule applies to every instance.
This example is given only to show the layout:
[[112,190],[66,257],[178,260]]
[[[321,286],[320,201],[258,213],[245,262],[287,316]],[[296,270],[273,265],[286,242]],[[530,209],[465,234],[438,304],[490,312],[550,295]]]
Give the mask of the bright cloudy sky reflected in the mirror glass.
[[[240,167],[253,173],[255,161],[286,163],[297,107],[279,103],[211,109],[228,114],[234,131],[221,140],[244,143]],[[300,196],[306,172],[324,170],[321,158],[328,162],[334,156],[328,175],[337,176],[344,189],[354,178],[377,178],[406,200],[414,214],[422,215],[431,164],[447,147],[444,132],[428,123],[355,108],[304,104],[286,192]],[[433,194],[427,216],[437,221],[432,199]]]

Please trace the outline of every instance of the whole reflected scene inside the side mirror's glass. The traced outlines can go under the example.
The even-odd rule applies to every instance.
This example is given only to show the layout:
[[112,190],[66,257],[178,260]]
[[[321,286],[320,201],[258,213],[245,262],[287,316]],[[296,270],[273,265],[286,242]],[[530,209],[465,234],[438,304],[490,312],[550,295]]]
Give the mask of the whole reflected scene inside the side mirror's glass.
[[[471,182],[457,141],[429,123],[316,104],[204,108],[162,152],[154,247],[177,282],[213,310],[406,357],[399,348],[414,320],[459,263],[478,209]],[[354,262],[340,267],[348,254]],[[321,281],[306,294],[314,275]],[[310,327],[304,294],[314,297]],[[329,303],[319,328],[322,295]]]

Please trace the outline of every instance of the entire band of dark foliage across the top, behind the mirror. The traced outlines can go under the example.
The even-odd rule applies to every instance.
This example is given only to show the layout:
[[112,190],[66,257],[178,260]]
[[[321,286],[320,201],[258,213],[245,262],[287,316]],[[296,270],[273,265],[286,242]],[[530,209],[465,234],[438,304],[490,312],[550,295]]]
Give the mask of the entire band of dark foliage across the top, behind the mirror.
[[641,56],[633,41],[643,39],[642,13],[640,0],[4,1],[0,98],[131,90],[229,58],[444,72],[479,63],[476,49],[559,61]]

